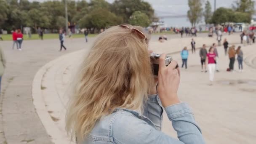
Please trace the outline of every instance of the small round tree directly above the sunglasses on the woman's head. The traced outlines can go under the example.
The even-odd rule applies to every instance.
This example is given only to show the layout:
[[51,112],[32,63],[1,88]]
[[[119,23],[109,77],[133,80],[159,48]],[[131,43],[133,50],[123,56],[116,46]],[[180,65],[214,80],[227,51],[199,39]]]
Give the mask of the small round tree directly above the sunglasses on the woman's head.
[[129,19],[129,24],[137,25],[141,27],[148,27],[150,24],[150,21],[147,14],[142,13],[141,11],[135,11]]

